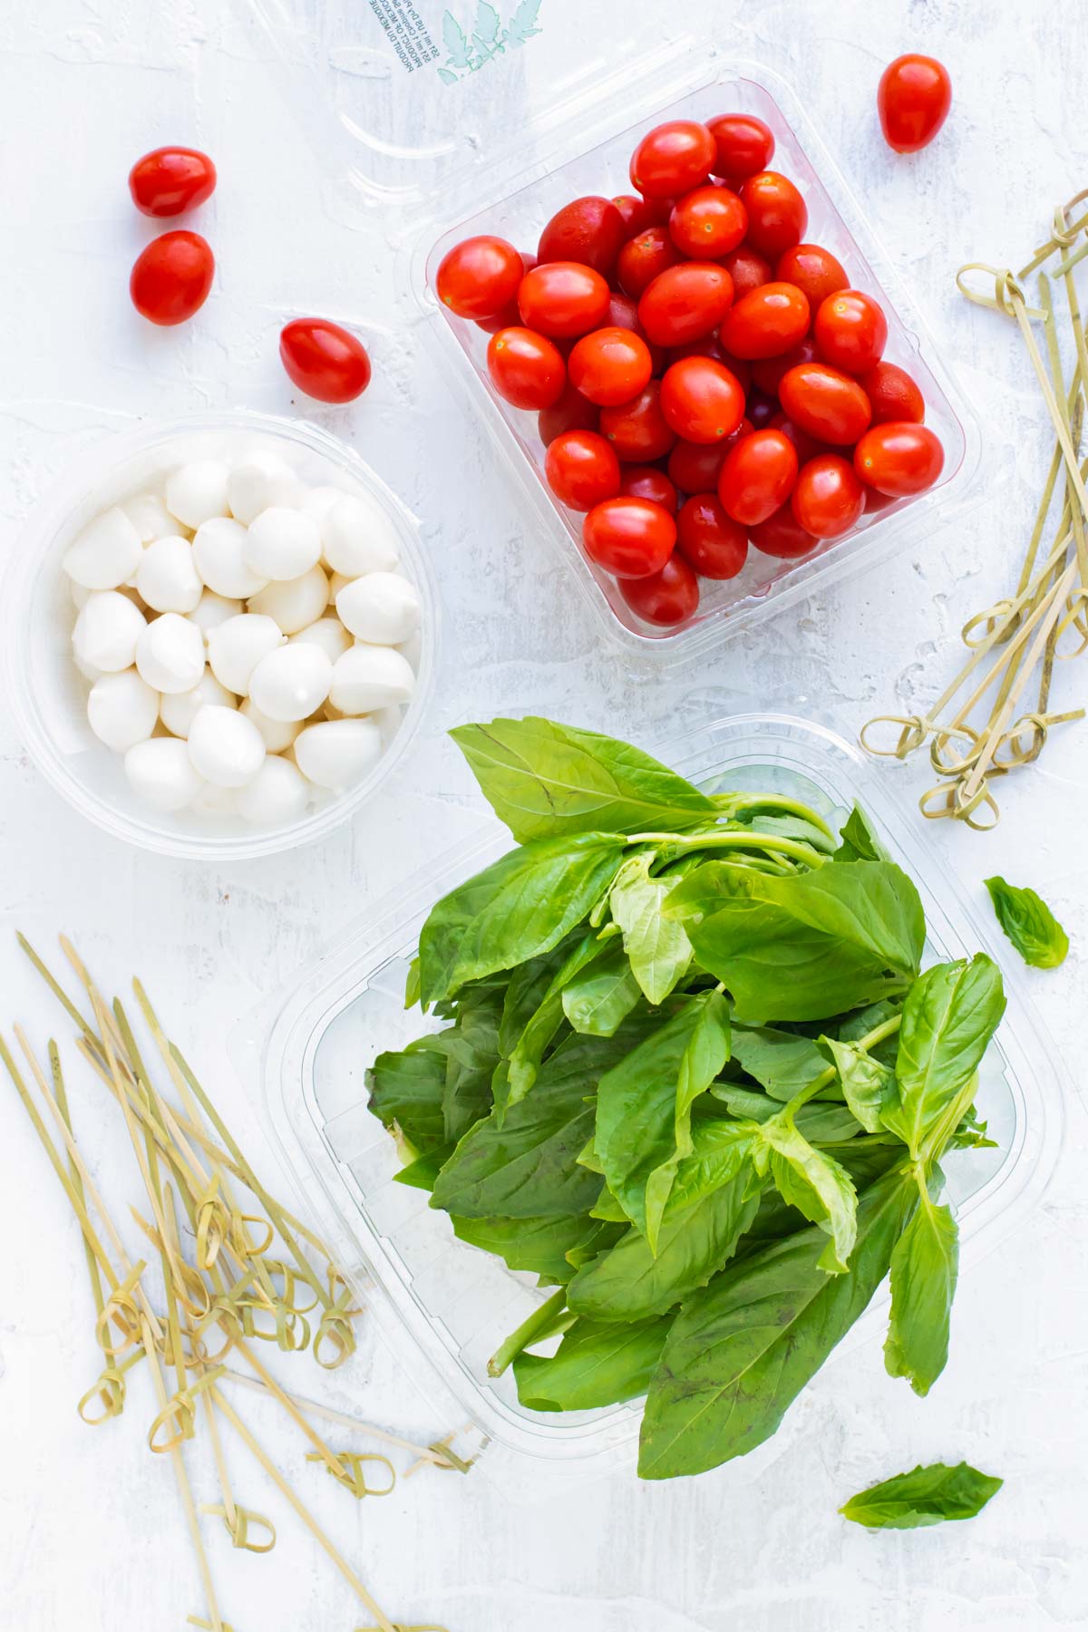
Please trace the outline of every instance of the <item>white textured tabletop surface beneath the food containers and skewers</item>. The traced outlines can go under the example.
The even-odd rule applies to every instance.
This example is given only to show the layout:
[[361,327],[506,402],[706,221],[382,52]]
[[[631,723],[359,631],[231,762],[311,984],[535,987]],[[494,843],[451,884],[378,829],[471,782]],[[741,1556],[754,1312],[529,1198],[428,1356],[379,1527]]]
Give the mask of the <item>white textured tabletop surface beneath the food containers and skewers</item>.
[[[312,0],[308,10],[321,7]],[[527,51],[592,64],[621,39],[652,52],[675,10],[543,0],[545,34]],[[951,273],[969,256],[1023,261],[1046,237],[1054,202],[1088,181],[1088,13],[1011,0],[744,10],[690,0],[683,10],[719,47],[759,57],[793,83],[938,338],[958,366],[971,366],[980,410],[1005,421],[1018,454],[1011,480],[962,526],[667,684],[600,641],[555,558],[524,537],[514,488],[493,470],[480,426],[455,410],[401,333],[380,233],[352,230],[331,181],[334,155],[315,152],[320,126],[303,134],[295,122],[299,109],[271,77],[268,41],[245,10],[215,0],[7,0],[2,10],[5,548],[16,547],[21,517],[70,450],[134,416],[217,405],[295,411],[276,335],[285,317],[310,310],[359,325],[372,344],[370,393],[323,419],[424,517],[442,583],[444,666],[426,741],[372,811],[300,855],[228,873],[132,854],[62,805],[0,721],[7,924],[46,947],[67,929],[111,989],[140,971],[254,1149],[259,1128],[225,1064],[223,1035],[369,898],[473,829],[480,805],[442,741],[445,726],[532,705],[662,743],[708,707],[773,703],[830,713],[850,731],[896,694],[933,695],[951,672],[958,625],[1005,588],[1019,558],[1049,457],[1042,410],[1008,330],[967,310]],[[360,33],[372,29],[362,0],[357,13]],[[302,5],[303,23],[305,15]],[[339,62],[316,62],[329,88],[351,65],[351,34],[339,46],[347,47]],[[884,62],[904,49],[943,57],[956,90],[944,134],[913,160],[882,147],[873,106]],[[377,72],[375,86],[380,64]],[[507,119],[519,104],[501,90],[509,72],[506,62],[488,69]],[[401,83],[387,88],[396,95]],[[457,96],[434,85],[432,135],[457,129]],[[129,207],[124,178],[137,153],[163,140],[202,145],[220,166],[212,206],[194,222],[215,246],[219,276],[196,323],[150,331],[126,294],[150,224]],[[1083,682],[1085,674],[1065,676],[1065,695],[1080,685],[1083,697]],[[1002,790],[998,834],[930,829],[971,891],[985,873],[1006,871],[1036,885],[1067,922],[1075,945],[1065,968],[1028,979],[1080,1087],[1088,1080],[1086,739],[1085,728],[1068,730],[1044,769]],[[896,775],[912,798],[922,772]],[[0,991],[5,1023],[20,1017],[39,1040],[55,1025],[7,932]],[[82,1103],[95,1147],[101,1100],[90,1090]],[[789,1454],[754,1480],[726,1469],[638,1487],[623,1475],[511,1505],[484,1477],[421,1475],[391,1500],[356,1510],[321,1488],[271,1413],[251,1405],[246,1415],[261,1420],[380,1601],[450,1632],[1081,1625],[1085,1155],[1080,1108],[1070,1106],[1044,1204],[961,1284],[953,1359],[928,1400],[889,1382],[876,1346],[855,1351],[809,1392]],[[96,1147],[106,1180],[119,1159],[117,1144]],[[78,1235],[7,1090],[0,1237],[0,1625],[183,1625],[199,1593],[170,1469],[142,1444],[145,1384],[121,1423],[88,1430],[73,1413],[95,1366]],[[372,1333],[334,1379],[305,1361],[294,1376],[299,1387],[388,1423],[445,1426],[427,1418]],[[835,1516],[878,1477],[961,1456],[1006,1479],[969,1526],[881,1537]],[[263,1505],[256,1475],[238,1469],[238,1485],[241,1500]],[[210,1537],[237,1632],[357,1625],[347,1588],[282,1503],[269,1497],[268,1506],[282,1536],[269,1559],[232,1555],[225,1536]]]

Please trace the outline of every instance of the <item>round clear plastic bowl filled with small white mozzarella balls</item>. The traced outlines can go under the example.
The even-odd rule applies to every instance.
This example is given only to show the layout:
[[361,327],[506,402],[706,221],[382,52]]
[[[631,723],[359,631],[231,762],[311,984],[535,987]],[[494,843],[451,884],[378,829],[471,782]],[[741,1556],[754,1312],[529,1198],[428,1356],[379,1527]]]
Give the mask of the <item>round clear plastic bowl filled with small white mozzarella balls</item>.
[[165,855],[269,855],[403,757],[437,643],[414,517],[318,426],[253,413],[98,444],[10,568],[15,721],[47,780]]

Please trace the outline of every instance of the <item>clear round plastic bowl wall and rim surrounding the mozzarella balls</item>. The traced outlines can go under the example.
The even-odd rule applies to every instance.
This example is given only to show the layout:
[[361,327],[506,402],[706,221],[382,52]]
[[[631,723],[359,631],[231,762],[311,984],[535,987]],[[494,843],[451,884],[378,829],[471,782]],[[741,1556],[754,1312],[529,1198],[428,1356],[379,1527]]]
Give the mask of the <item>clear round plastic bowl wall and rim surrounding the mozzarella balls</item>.
[[[416,694],[400,730],[369,777],[282,827],[253,829],[238,818],[194,811],[160,814],[132,793],[124,756],[86,723],[86,682],[72,661],[73,605],[60,558],[103,508],[152,486],[184,459],[272,447],[313,483],[364,490],[387,511],[401,565],[422,602]],[[142,426],[100,442],[73,462],[34,509],[5,581],[5,666],[16,730],[38,769],[75,809],[106,832],[160,855],[243,860],[320,839],[354,816],[408,751],[427,707],[439,612],[414,516],[349,447],[307,421],[248,411],[192,415]]]

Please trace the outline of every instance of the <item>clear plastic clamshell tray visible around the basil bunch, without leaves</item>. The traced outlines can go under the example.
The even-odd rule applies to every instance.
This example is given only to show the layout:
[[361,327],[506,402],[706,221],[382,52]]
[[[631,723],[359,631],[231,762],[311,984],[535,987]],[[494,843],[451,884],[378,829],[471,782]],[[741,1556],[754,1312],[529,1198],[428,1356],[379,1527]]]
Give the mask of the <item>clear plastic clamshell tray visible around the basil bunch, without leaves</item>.
[[[842,738],[785,715],[716,720],[670,743],[669,764],[710,792],[750,788],[804,800],[842,819],[860,801],[892,857],[915,880],[928,924],[927,963],[992,950],[992,935],[959,883],[922,844],[913,811]],[[391,1138],[367,1110],[365,1071],[383,1049],[403,1048],[429,1025],[405,1010],[405,979],[419,929],[434,904],[511,847],[504,827],[445,858],[396,898],[375,904],[328,953],[246,1027],[251,1092],[294,1182],[303,1216],[331,1244],[382,1332],[424,1392],[450,1397],[476,1428],[517,1461],[595,1472],[630,1464],[641,1404],[576,1413],[537,1413],[517,1400],[512,1374],[489,1379],[488,1358],[546,1293],[458,1242],[449,1217],[421,1190],[395,1183]],[[946,1160],[949,1198],[969,1270],[1037,1204],[1062,1136],[1062,1066],[1023,982],[1006,974],[1008,1009],[980,1072],[979,1113],[995,1149]],[[879,1294],[847,1343],[882,1330]],[[969,1342],[969,1333],[962,1335]],[[789,1420],[775,1438],[788,1444]],[[768,1449],[770,1454],[770,1449]],[[750,1459],[745,1459],[750,1464]]]

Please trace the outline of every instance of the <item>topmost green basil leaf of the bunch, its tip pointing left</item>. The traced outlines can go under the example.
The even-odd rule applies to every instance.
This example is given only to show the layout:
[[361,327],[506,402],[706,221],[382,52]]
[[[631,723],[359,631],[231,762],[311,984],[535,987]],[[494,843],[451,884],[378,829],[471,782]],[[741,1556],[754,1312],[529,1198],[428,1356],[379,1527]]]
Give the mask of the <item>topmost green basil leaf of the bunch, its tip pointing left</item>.
[[714,803],[628,743],[551,720],[462,725],[450,736],[520,844],[577,832],[675,832],[713,823]]

